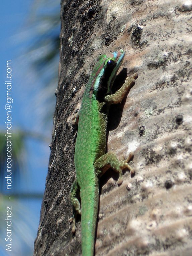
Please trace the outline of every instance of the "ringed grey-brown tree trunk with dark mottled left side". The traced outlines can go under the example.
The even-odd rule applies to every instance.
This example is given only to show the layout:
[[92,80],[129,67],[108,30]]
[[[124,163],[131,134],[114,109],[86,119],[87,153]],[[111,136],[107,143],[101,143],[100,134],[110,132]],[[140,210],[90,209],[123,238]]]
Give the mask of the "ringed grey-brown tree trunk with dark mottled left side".
[[[109,118],[108,151],[134,151],[136,174],[101,178],[96,255],[192,255],[191,1],[61,3],[54,130],[34,255],[81,255],[71,234],[69,192],[77,129],[71,125],[100,54],[124,49],[139,77]],[[120,70],[122,69],[120,68]],[[121,118],[122,114],[122,118]]]

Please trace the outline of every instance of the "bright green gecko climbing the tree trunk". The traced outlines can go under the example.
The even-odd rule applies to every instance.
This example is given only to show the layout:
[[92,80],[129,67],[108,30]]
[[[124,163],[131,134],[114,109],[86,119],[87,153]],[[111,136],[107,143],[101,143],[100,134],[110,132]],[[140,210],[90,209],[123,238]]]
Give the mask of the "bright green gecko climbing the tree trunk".
[[[99,178],[112,167],[119,178],[117,184],[123,182],[122,170],[128,168],[133,154],[124,161],[119,161],[116,154],[106,153],[107,119],[111,104],[118,104],[126,96],[138,77],[127,77],[122,87],[114,94],[111,88],[117,71],[121,66],[125,52],[116,51],[109,55],[101,55],[93,69],[85,88],[81,108],[76,117],[78,132],[75,145],[76,180],[71,187],[70,199],[73,206],[73,227],[75,233],[75,215],[81,214],[81,247],[82,256],[94,255],[95,230],[99,202]],[[73,124],[74,124],[73,120]],[[81,206],[78,200],[80,191]]]

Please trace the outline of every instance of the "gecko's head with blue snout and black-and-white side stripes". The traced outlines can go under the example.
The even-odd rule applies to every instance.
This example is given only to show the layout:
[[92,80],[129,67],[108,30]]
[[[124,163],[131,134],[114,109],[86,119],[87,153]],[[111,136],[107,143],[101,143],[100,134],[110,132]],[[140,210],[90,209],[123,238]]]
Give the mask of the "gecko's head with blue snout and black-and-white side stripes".
[[98,57],[93,70],[95,74],[93,94],[97,99],[102,100],[107,94],[111,93],[113,82],[124,56],[125,52],[119,50],[109,55],[100,55]]

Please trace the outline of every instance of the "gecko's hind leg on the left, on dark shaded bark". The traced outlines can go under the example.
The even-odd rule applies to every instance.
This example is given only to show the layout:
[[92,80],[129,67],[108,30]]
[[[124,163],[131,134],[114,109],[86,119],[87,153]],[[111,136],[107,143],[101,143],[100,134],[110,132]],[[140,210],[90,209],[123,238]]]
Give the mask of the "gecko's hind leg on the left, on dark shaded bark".
[[71,232],[74,234],[75,233],[75,219],[77,214],[81,214],[81,206],[80,202],[77,198],[77,195],[79,193],[79,186],[77,184],[77,180],[75,180],[71,186],[71,191],[70,191],[70,200],[73,206],[73,216],[70,218],[70,222],[73,222],[72,224],[72,230]]

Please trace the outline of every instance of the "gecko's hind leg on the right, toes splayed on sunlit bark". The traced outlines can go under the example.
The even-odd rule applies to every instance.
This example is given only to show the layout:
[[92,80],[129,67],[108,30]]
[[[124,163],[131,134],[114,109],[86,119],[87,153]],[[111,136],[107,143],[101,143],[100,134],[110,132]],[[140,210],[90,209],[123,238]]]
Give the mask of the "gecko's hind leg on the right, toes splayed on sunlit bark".
[[131,174],[134,173],[133,168],[128,164],[132,157],[133,153],[130,153],[127,159],[119,161],[116,154],[108,152],[95,161],[95,173],[97,176],[102,176],[110,167],[112,167],[114,171],[119,173],[117,184],[120,185],[123,182],[123,169],[128,168]]

